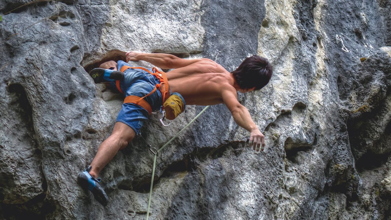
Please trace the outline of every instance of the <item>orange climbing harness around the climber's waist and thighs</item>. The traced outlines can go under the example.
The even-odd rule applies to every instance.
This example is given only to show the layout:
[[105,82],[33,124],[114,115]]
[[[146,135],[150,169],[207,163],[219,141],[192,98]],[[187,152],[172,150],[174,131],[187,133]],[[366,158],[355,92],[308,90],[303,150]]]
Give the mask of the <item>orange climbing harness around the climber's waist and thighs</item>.
[[[161,92],[161,96],[163,97],[163,103],[165,103],[165,101],[170,96],[169,81],[167,79],[167,75],[166,75],[165,72],[159,71],[156,67],[153,67],[152,68],[152,72],[151,72],[148,69],[145,69],[144,67],[123,66],[123,67],[121,67],[120,71],[121,72],[125,72],[125,70],[127,70],[129,68],[131,68],[131,69],[141,69],[141,70],[147,71],[150,74],[154,75],[156,78],[158,78],[159,81],[160,81],[160,83],[155,86],[155,88],[152,90],[152,92],[150,92],[146,96],[144,96],[144,97],[127,96],[127,97],[125,97],[125,100],[124,100],[124,103],[134,103],[136,105],[139,105],[142,108],[144,108],[145,110],[147,110],[148,114],[151,114],[152,113],[152,107],[151,107],[151,105],[149,105],[149,103],[147,101],[144,100],[144,98],[149,96],[149,95],[151,95],[151,94],[153,94],[156,91],[156,89],[159,88],[159,91]],[[120,91],[121,93],[124,93],[121,90],[120,81],[119,80],[117,80],[115,82],[115,85],[117,85],[118,91]]]

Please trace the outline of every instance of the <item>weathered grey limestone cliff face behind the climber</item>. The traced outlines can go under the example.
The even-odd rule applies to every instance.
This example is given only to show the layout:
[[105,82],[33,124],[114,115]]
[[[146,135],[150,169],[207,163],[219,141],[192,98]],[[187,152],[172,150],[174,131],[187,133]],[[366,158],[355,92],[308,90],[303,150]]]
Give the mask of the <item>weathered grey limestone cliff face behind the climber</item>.
[[[150,219],[390,220],[390,11],[390,0],[0,1],[0,219],[145,219],[142,139],[102,171],[108,206],[76,183],[123,100],[86,71],[138,50],[229,71],[258,54],[274,69],[239,95],[265,151],[212,106],[159,155]],[[202,108],[167,128],[151,115],[143,136],[160,147]]]

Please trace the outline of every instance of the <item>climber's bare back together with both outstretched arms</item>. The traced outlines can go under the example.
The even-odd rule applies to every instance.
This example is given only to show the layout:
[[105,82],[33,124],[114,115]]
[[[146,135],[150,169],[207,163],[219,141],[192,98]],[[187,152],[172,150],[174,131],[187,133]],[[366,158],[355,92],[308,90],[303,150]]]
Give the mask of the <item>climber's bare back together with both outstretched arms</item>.
[[215,61],[206,58],[187,60],[171,54],[134,51],[127,52],[125,55],[127,62],[143,60],[161,69],[174,69],[167,73],[171,92],[179,92],[185,98],[187,105],[224,103],[235,122],[250,132],[249,140],[253,150],[259,151],[261,142],[261,150],[263,150],[265,146],[264,135],[251,119],[247,108],[237,100],[237,91],[251,92],[256,87],[240,88],[232,73]]

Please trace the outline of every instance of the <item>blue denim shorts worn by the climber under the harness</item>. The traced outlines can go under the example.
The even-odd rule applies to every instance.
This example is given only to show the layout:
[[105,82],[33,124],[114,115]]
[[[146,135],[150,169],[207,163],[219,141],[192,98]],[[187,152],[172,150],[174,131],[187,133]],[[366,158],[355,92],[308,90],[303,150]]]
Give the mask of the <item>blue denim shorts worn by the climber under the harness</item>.
[[[117,62],[118,70],[122,66],[129,66],[126,62],[120,60]],[[151,69],[148,69],[152,71]],[[110,82],[111,86],[116,88],[115,81]],[[156,84],[159,84],[158,78],[142,69],[127,69],[124,72],[124,79],[120,81],[121,90],[125,96],[143,97],[152,92]],[[125,92],[126,91],[126,92]],[[157,89],[154,93],[144,98],[151,105],[152,111],[160,108],[162,103],[161,92]],[[124,103],[117,116],[117,122],[122,122],[131,127],[136,134],[140,134],[140,129],[148,119],[148,111],[139,105],[133,103]]]

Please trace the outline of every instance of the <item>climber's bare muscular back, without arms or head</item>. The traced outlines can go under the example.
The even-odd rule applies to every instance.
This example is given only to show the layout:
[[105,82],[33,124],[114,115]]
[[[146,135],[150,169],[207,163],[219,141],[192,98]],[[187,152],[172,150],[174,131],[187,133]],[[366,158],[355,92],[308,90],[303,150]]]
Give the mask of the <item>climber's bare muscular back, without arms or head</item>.
[[206,58],[197,60],[199,61],[167,72],[171,92],[179,92],[186,105],[223,103],[222,89],[233,88],[230,85],[231,73],[215,61]]

